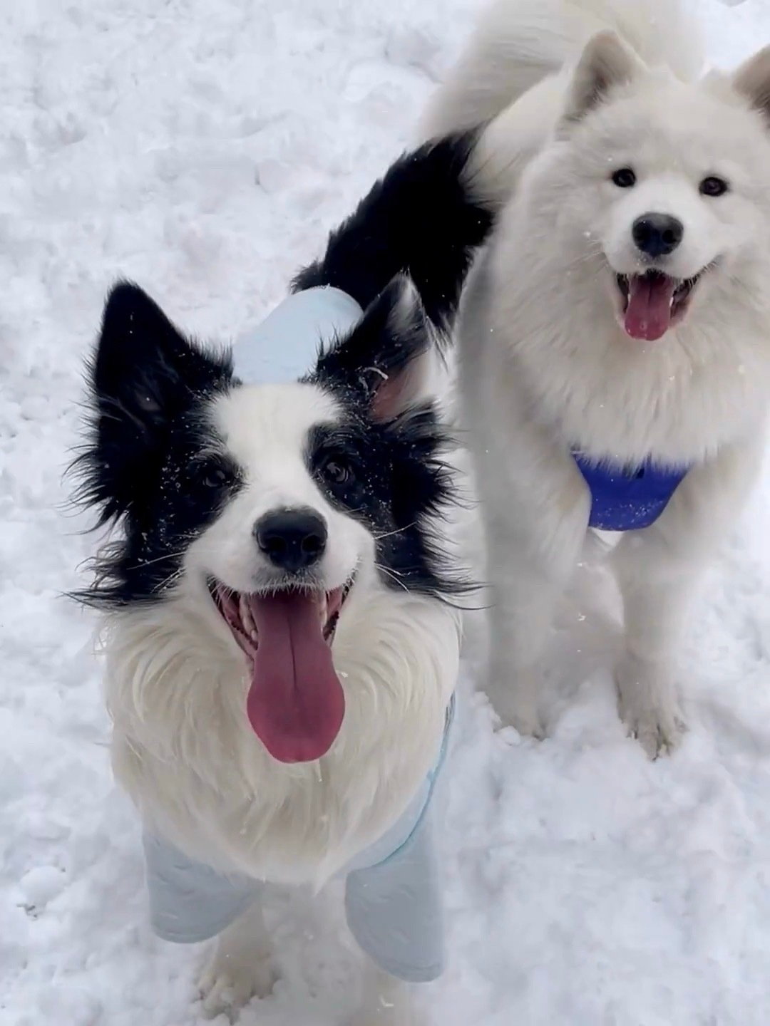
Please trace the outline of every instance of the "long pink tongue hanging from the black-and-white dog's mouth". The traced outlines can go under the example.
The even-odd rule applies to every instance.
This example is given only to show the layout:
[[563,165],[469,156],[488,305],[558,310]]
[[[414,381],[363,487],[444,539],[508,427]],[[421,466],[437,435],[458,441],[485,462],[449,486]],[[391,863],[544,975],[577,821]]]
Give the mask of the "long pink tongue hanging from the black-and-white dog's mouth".
[[248,600],[259,633],[246,712],[279,762],[312,762],[340,733],[345,695],[312,595],[285,592]]

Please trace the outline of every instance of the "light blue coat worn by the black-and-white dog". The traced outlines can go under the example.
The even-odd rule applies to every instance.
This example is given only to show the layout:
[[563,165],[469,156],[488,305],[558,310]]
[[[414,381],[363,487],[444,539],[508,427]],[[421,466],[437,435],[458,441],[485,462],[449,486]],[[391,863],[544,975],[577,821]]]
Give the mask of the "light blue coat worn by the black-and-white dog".
[[[360,315],[358,304],[336,288],[292,295],[236,345],[235,373],[244,383],[297,380],[307,372],[319,341],[349,331]],[[343,870],[351,933],[381,969],[410,983],[434,980],[444,970],[430,801],[453,716],[454,698],[428,777],[396,823]],[[241,874],[219,873],[157,835],[146,834],[144,847],[151,921],[166,941],[184,944],[216,937],[269,886]]]

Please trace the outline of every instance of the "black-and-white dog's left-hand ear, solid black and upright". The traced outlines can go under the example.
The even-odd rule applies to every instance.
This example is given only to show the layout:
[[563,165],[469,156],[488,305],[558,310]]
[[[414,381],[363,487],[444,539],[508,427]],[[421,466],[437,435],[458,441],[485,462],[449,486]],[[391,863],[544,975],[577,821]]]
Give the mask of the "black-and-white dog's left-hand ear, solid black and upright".
[[137,475],[158,472],[175,423],[231,373],[229,355],[202,352],[137,285],[112,289],[88,367],[92,420],[78,461],[80,498],[102,508],[100,522],[126,512]]

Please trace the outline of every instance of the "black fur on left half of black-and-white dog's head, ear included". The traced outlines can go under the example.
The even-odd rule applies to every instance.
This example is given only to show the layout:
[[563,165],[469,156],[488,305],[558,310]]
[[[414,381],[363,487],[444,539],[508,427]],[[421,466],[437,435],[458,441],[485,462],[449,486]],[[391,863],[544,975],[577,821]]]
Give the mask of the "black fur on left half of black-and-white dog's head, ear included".
[[121,282],[107,301],[87,367],[88,442],[74,469],[76,499],[98,510],[98,525],[120,523],[120,538],[97,561],[94,583],[76,597],[122,606],[161,597],[182,553],[237,487],[206,486],[208,400],[232,385],[229,353],[204,352],[185,339],[136,285]]

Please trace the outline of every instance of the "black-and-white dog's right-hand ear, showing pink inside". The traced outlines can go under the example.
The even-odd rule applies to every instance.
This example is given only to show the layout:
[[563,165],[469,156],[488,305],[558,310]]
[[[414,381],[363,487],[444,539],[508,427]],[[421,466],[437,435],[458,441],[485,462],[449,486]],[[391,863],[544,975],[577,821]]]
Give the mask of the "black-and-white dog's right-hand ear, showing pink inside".
[[411,278],[396,275],[353,330],[321,353],[312,380],[369,407],[380,421],[425,398],[434,341]]

